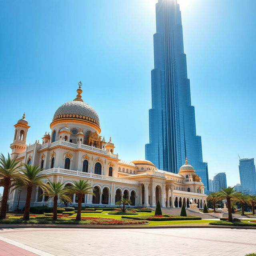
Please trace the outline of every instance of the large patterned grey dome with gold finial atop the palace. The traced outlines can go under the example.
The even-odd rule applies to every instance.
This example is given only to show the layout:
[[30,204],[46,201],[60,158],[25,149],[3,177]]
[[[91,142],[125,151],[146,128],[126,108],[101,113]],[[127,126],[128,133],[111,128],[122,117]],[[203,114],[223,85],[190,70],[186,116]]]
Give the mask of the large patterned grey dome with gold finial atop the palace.
[[77,89],[78,95],[72,101],[64,103],[55,112],[52,122],[55,120],[60,120],[63,118],[72,118],[85,120],[87,122],[92,122],[97,126],[100,126],[99,116],[96,111],[87,103],[82,100],[82,83],[78,83],[79,88]]

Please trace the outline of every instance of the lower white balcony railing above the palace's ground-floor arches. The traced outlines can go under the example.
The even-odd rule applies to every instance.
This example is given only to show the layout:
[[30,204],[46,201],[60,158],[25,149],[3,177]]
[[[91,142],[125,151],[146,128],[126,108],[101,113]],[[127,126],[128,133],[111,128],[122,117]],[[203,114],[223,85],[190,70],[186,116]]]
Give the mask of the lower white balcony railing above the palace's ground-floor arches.
[[66,174],[70,176],[78,176],[78,177],[87,177],[87,178],[92,178],[92,179],[99,179],[99,180],[113,180],[116,182],[125,182],[129,184],[134,184],[134,185],[139,185],[139,182],[136,180],[126,180],[123,178],[116,178],[112,176],[105,176],[105,175],[100,175],[100,174],[94,174],[91,172],[79,172],[79,171],[74,171],[74,170],[67,170],[63,168],[52,168],[48,170],[43,170],[42,173],[44,174]]

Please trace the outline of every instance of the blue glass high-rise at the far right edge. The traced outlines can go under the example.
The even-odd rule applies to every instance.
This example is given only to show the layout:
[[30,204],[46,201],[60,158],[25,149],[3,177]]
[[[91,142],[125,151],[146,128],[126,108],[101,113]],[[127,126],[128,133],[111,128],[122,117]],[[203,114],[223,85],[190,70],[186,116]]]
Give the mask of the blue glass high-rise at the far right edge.
[[243,192],[246,194],[256,194],[256,171],[254,158],[243,158],[239,160],[240,183]]

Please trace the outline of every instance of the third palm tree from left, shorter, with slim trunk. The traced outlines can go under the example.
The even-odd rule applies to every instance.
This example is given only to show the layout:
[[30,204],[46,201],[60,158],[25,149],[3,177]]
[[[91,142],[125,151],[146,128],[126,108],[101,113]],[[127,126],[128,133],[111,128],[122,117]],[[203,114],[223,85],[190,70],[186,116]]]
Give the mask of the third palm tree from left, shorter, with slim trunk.
[[44,195],[53,198],[53,219],[57,220],[58,199],[71,202],[71,198],[66,194],[66,189],[60,182],[49,182]]

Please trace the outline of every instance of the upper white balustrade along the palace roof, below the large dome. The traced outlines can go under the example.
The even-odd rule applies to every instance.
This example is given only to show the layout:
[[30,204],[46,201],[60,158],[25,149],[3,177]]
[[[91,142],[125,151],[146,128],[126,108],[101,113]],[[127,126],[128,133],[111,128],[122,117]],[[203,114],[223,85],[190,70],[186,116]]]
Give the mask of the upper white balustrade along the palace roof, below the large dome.
[[71,143],[71,142],[67,142],[65,140],[57,140],[57,141],[52,142],[52,143],[46,143],[46,144],[43,144],[43,145],[38,145],[38,149],[51,148],[51,147],[56,146],[56,145],[64,145],[64,146],[70,147],[70,148],[84,148],[86,150],[98,152],[100,154],[105,154],[105,155],[110,156],[112,158],[117,158],[118,159],[118,154],[109,153],[107,150],[104,150],[104,149],[101,149],[101,148],[95,148],[94,146],[89,146],[89,145],[85,145],[85,144],[81,144],[81,143],[78,143],[78,144]]

